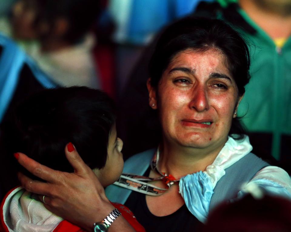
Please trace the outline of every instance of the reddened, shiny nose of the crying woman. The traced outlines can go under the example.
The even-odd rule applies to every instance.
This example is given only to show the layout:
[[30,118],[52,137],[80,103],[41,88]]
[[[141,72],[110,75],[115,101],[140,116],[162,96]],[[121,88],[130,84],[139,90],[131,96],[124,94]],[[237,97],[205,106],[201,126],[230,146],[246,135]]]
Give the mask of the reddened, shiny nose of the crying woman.
[[209,109],[207,91],[203,86],[196,86],[193,89],[189,107],[196,109],[197,112]]

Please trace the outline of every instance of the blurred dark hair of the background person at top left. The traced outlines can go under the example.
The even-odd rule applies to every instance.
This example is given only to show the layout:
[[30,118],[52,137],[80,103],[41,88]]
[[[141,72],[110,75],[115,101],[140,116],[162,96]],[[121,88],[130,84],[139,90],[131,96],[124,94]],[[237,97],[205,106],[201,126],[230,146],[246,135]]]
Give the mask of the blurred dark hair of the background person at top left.
[[[27,0],[26,0],[27,1]],[[69,22],[64,39],[76,43],[89,31],[101,11],[99,0],[34,0],[37,10],[35,26],[47,22],[52,29],[59,18]]]

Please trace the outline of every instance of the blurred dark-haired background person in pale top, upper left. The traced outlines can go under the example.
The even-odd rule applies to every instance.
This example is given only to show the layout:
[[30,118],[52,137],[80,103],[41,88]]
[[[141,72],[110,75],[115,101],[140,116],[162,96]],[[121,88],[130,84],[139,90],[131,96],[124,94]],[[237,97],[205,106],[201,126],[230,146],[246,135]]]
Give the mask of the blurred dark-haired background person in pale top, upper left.
[[60,86],[100,88],[90,33],[99,11],[95,0],[19,0],[0,26]]

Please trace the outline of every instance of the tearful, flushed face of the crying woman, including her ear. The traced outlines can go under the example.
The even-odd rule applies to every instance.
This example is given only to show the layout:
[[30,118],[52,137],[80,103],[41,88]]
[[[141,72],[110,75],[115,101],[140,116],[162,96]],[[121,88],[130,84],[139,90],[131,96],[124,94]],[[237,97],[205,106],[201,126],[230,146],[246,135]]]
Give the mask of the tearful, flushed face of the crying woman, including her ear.
[[224,63],[218,50],[186,50],[172,59],[157,89],[148,82],[149,103],[159,110],[167,142],[208,149],[224,145],[240,100]]

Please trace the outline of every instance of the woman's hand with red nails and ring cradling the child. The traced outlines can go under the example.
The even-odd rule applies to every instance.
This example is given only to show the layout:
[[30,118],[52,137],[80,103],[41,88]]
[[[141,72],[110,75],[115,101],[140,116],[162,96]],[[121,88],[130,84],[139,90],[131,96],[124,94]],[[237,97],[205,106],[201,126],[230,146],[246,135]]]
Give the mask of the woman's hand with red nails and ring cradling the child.
[[[72,145],[72,144],[71,144]],[[37,163],[22,153],[15,156],[18,162],[29,172],[47,183],[32,180],[22,173],[18,178],[29,192],[37,193],[40,199],[45,195],[44,206],[51,212],[92,231],[95,222],[102,221],[114,207],[105,196],[103,187],[93,171],[83,162],[78,152],[68,145],[65,155],[74,168],[74,173],[52,170]],[[134,231],[127,221],[119,216],[109,231]]]

